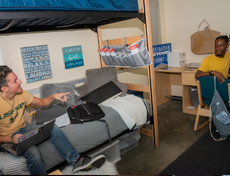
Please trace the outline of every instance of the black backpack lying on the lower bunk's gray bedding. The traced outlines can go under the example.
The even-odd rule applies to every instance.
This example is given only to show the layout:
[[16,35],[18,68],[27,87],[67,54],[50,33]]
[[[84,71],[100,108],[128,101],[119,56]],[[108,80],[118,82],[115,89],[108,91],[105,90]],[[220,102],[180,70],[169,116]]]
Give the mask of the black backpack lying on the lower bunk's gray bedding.
[[69,119],[71,124],[84,122],[91,122],[95,120],[99,120],[100,122],[105,123],[106,130],[109,136],[109,142],[111,144],[111,135],[109,131],[108,123],[102,119],[105,116],[105,113],[100,108],[100,106],[93,102],[83,103],[77,106],[70,106],[67,108],[67,113],[69,115]]

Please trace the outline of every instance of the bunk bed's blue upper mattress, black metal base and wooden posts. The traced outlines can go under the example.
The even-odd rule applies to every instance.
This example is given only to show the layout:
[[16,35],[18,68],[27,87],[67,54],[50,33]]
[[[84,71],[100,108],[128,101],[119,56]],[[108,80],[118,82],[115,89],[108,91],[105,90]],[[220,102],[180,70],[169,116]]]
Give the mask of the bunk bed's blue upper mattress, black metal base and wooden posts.
[[[74,1],[76,3],[73,3]],[[70,0],[69,4],[64,3],[62,0],[25,0],[23,1],[24,4],[22,2],[17,4],[17,2],[13,2],[13,0],[3,0],[0,2],[0,35],[90,28],[94,32],[97,32],[98,43],[101,48],[105,45],[105,41],[102,41],[101,26],[138,18],[145,25],[144,37],[147,41],[150,56],[153,59],[149,0],[143,0],[143,9],[141,10],[138,10],[137,0],[112,0],[110,1],[112,2],[110,6],[102,0],[98,0],[97,3],[89,0],[86,4],[81,0]],[[52,4],[51,2],[56,2],[56,4]],[[78,6],[75,6],[76,4]],[[138,40],[140,40],[140,36],[129,37],[126,38],[126,44],[129,45]],[[108,40],[108,43],[111,45],[121,45],[121,41],[123,44],[123,39]],[[101,67],[106,67],[102,59],[100,59],[100,63]],[[142,128],[141,133],[150,136],[153,140],[153,146],[158,147],[159,137],[154,66],[148,65],[143,68],[148,71],[148,85],[126,85],[129,90],[149,93],[152,124],[151,129]]]

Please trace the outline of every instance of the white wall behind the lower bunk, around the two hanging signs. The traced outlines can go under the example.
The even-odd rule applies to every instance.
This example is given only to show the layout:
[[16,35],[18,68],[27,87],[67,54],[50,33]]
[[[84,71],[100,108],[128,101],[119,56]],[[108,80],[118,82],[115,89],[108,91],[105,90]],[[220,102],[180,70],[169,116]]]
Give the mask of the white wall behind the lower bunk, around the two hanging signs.
[[[85,77],[86,69],[100,67],[97,43],[97,34],[88,29],[0,35],[3,62],[22,80],[25,90],[36,89],[44,83],[60,83]],[[27,84],[20,48],[37,45],[48,45],[53,78]],[[82,46],[84,66],[66,70],[62,47],[76,45]]]

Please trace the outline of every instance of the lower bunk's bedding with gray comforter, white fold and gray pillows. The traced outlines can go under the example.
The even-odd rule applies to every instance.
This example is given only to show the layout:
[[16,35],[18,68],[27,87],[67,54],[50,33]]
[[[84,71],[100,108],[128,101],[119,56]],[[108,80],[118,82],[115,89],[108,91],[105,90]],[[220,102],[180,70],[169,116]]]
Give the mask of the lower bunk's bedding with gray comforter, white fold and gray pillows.
[[[66,86],[64,86],[65,91],[77,91],[80,95],[77,97],[72,96],[73,99],[69,97],[67,103],[71,105],[72,101],[73,104],[76,104],[81,96],[86,95],[93,89],[100,87],[108,81],[114,81],[116,83],[117,77],[116,71],[114,71],[114,69],[115,68],[101,68],[87,70],[86,81],[82,86],[74,87],[74,85],[66,84]],[[105,76],[95,78],[95,76],[98,76],[97,73],[101,74],[105,70],[107,72],[107,74],[104,74]],[[92,78],[91,76],[93,76],[94,78]],[[99,80],[99,78],[101,80]],[[50,95],[52,95],[53,93],[57,93],[56,91],[63,92],[63,85],[64,84],[55,84],[55,86],[52,84],[44,85],[40,89],[41,96],[49,96],[46,95],[47,92]],[[92,121],[83,124],[69,124],[61,128],[71,144],[76,149],[76,151],[78,151],[80,154],[87,154],[91,156],[100,154],[105,149],[111,149],[112,145],[115,145],[114,147],[117,147],[117,143],[119,143],[117,142],[117,140],[119,139],[122,141],[121,143],[119,143],[119,145],[122,145],[122,154],[137,145],[137,140],[139,139],[139,130],[138,134],[136,134],[136,130],[149,121],[149,106],[147,106],[144,100],[137,96],[126,95],[127,87],[125,89],[124,84],[118,83],[117,85],[122,89],[122,97],[116,97],[100,105],[105,113],[105,117],[103,117],[103,119],[107,122],[109,126],[109,132],[112,138],[111,144],[109,143],[109,136],[106,130],[105,123],[102,123],[100,121]],[[53,88],[53,86],[55,88]],[[59,89],[60,86],[62,91],[60,91]],[[37,111],[35,115],[36,119],[39,119],[39,116],[50,118],[51,114],[58,117],[59,115],[57,113],[57,107],[63,107],[63,105],[61,104],[62,102],[56,102],[56,104],[53,104],[50,107],[46,107],[46,109],[41,109]],[[36,119],[33,118],[32,122],[28,125],[35,125]],[[128,140],[130,136],[133,136],[132,140]],[[134,142],[133,139],[136,141]],[[124,142],[127,140],[128,143]],[[64,158],[59,154],[59,152],[50,140],[46,140],[39,144],[38,149],[40,150],[44,166],[48,172],[59,168],[63,164],[66,164]],[[108,157],[108,160],[112,161],[113,159]],[[114,162],[115,160],[119,160],[119,158],[115,158]],[[14,156],[5,152],[0,152],[0,170],[2,171],[2,174],[5,175],[29,174],[26,159],[24,157]]]

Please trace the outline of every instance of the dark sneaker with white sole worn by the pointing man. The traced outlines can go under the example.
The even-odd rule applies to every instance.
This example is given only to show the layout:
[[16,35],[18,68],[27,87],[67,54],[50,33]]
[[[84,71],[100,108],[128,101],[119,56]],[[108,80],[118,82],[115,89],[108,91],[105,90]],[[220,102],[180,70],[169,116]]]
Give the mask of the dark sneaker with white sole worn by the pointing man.
[[90,171],[93,168],[100,168],[105,163],[105,156],[99,155],[97,157],[80,156],[73,166],[73,173],[79,171]]

